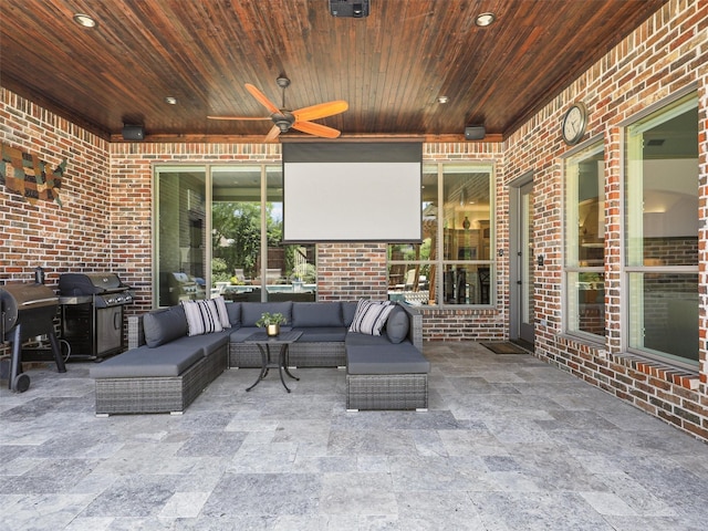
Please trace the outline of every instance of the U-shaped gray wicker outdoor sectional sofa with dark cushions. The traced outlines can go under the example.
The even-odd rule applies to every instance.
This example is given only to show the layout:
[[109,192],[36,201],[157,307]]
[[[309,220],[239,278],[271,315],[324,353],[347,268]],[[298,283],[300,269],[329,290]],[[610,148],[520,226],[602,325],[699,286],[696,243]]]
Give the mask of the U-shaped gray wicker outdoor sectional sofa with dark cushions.
[[348,410],[427,409],[421,315],[392,303],[381,335],[352,332],[357,304],[230,302],[222,316],[230,326],[197,335],[189,335],[183,305],[131,316],[128,351],[91,367],[96,415],[180,414],[227,367],[260,367],[258,346],[244,340],[262,331],[256,322],[263,312],[285,316],[281,331],[302,332],[289,366],[346,367]]

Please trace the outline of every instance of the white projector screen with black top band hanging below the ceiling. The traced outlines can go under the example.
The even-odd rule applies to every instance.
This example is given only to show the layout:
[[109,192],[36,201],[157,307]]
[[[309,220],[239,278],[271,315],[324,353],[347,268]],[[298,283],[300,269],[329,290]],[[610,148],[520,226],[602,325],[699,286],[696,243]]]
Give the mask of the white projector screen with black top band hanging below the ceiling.
[[283,240],[421,241],[423,144],[283,144]]

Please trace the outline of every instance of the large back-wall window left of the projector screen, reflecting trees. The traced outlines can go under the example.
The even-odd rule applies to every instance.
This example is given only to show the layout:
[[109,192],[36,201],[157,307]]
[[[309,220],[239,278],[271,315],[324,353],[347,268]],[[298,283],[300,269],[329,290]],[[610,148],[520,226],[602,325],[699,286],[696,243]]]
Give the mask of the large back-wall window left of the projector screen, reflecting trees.
[[314,246],[282,244],[280,165],[157,167],[155,181],[157,305],[315,300]]

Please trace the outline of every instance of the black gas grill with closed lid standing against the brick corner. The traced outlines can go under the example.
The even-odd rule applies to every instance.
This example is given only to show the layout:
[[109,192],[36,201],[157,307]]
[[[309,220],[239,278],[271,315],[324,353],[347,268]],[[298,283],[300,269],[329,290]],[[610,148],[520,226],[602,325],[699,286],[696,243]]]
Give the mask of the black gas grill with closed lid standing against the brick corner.
[[125,350],[124,306],[134,295],[117,274],[64,273],[59,277],[59,292],[70,360],[98,360]]

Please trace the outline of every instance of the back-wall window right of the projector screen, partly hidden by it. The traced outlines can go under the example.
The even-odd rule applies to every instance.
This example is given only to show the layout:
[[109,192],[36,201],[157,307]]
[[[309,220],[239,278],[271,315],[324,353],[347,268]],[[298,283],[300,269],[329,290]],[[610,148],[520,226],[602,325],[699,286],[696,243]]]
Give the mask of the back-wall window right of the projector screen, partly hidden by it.
[[388,246],[388,296],[412,304],[493,303],[490,165],[423,167],[423,243]]

